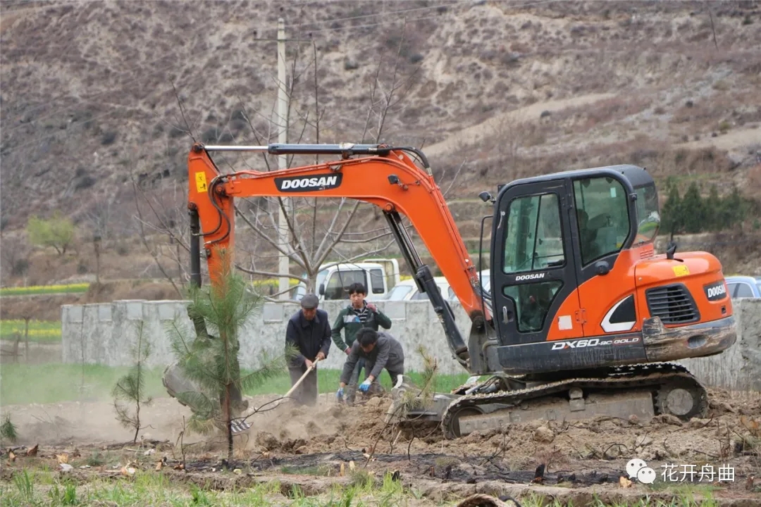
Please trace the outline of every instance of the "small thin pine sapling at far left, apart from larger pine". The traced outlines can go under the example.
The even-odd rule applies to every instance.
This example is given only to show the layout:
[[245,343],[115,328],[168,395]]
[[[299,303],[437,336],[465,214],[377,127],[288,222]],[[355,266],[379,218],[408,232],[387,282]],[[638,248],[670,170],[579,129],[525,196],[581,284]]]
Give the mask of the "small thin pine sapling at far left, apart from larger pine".
[[[116,411],[116,420],[125,428],[135,429],[135,437],[132,442],[137,442],[140,430],[145,428],[140,420],[141,407],[151,404],[153,398],[145,394],[145,361],[148,360],[148,354],[151,353],[150,344],[145,340],[143,333],[143,322],[137,325],[137,341],[132,348],[132,357],[135,361],[134,366],[124,375],[119,382],[113,387],[113,408]],[[134,407],[134,411],[126,404],[119,401],[125,401]]]

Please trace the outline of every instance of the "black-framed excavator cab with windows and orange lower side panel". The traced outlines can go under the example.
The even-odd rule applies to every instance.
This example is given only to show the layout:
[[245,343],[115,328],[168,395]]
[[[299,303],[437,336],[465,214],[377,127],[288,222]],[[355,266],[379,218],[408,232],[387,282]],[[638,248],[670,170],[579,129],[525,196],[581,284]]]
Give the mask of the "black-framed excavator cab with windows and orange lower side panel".
[[[586,325],[591,309],[635,289],[628,271],[611,274],[612,268],[629,249],[641,252],[638,257],[653,255],[659,223],[655,183],[636,166],[571,171],[502,187],[495,201],[491,279],[505,371],[537,373],[589,363],[598,352],[594,347],[582,353],[587,357],[563,356],[552,342],[596,336],[594,326]],[[591,280],[603,293],[579,290]],[[626,306],[612,323],[635,322],[634,311]],[[613,328],[619,332],[621,326]],[[645,360],[637,341],[612,347],[610,355]]]

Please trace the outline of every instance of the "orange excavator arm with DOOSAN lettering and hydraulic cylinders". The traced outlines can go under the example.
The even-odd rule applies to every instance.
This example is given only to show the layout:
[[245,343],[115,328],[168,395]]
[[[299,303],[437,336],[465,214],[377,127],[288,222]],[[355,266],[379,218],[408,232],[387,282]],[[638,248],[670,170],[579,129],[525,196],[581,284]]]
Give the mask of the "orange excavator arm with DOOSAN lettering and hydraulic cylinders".
[[[272,155],[340,155],[339,160],[259,172],[244,170],[222,174],[213,151],[253,151]],[[422,163],[416,165],[412,156]],[[454,323],[454,313],[424,265],[402,223],[414,224],[420,238],[447,278],[472,322],[473,337],[486,333],[489,308],[482,300],[476,267],[470,259],[444,196],[436,185],[421,151],[412,147],[376,144],[269,144],[269,146],[204,146],[196,143],[188,157],[189,211],[191,215],[191,277],[200,286],[201,239],[212,274],[217,271],[216,249],[234,249],[234,198],[278,196],[283,198],[351,198],[383,210],[416,283],[428,293],[444,326],[449,347],[461,365],[470,369],[470,354]],[[482,342],[482,339],[476,340]],[[480,363],[480,361],[478,361]]]

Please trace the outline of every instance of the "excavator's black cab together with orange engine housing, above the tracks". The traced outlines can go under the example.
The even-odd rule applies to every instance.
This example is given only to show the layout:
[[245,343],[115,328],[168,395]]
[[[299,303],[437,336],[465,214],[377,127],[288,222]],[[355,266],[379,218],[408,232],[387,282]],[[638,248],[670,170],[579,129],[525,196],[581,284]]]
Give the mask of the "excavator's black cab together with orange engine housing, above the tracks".
[[[676,360],[727,346],[731,303],[708,301],[702,287],[716,277],[723,284],[720,265],[705,269],[697,262],[690,271],[694,253],[687,261],[655,258],[658,192],[642,167],[517,180],[501,188],[494,208],[491,297],[505,372],[537,376]],[[653,279],[651,288],[637,274],[654,266],[667,274]],[[701,314],[715,319],[712,331],[690,328]],[[674,339],[664,324],[686,329]],[[700,338],[681,343],[690,333]],[[664,354],[658,341],[680,343]]]

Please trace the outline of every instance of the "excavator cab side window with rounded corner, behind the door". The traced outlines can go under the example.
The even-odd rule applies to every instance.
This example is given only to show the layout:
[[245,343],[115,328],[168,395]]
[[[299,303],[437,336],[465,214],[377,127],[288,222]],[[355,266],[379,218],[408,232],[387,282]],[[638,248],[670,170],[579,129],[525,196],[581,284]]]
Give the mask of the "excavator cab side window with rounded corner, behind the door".
[[630,233],[623,185],[606,176],[578,179],[574,198],[582,264],[619,252]]

